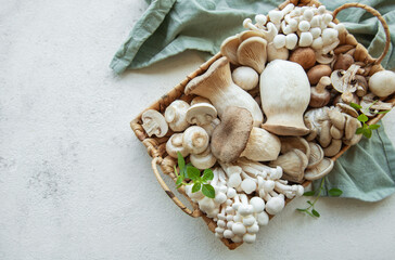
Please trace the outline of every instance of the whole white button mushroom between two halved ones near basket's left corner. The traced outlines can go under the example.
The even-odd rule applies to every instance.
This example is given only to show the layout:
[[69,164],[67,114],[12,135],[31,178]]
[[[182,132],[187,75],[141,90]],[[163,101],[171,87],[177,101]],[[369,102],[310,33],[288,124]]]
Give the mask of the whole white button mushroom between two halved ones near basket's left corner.
[[189,122],[186,117],[189,107],[190,105],[182,100],[176,100],[167,106],[165,110],[165,119],[173,131],[181,132],[189,127]]

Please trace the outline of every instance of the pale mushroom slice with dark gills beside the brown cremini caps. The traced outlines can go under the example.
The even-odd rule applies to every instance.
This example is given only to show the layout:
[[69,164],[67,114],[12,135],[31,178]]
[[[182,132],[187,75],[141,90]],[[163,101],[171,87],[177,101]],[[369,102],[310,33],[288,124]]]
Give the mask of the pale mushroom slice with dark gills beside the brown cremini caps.
[[359,67],[359,65],[353,64],[347,70],[337,69],[331,74],[333,88],[342,93],[342,100],[346,103],[352,102],[352,93],[357,90],[355,75]]

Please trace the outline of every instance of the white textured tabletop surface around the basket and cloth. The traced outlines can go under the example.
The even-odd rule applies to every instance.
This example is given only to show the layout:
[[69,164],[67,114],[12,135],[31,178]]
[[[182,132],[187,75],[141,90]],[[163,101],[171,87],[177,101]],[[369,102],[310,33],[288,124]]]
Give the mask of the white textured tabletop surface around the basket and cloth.
[[[395,196],[291,203],[229,251],[157,184],[129,121],[193,72],[187,52],[115,76],[142,0],[0,0],[0,259],[394,259]],[[395,133],[395,112],[384,123]],[[393,142],[395,140],[393,139]]]

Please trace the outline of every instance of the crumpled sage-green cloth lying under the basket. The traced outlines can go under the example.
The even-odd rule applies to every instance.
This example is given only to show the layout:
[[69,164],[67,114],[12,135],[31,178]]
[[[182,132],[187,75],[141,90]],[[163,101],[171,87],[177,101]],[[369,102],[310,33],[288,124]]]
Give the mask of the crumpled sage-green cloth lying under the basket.
[[[352,0],[353,1],[353,0]],[[321,0],[329,10],[343,0]],[[254,18],[277,8],[279,0],[153,0],[137,22],[128,39],[115,54],[111,67],[118,74],[142,68],[184,50],[199,50],[206,57],[216,54],[224,39],[243,30],[244,18]],[[375,8],[390,25],[392,46],[382,64],[395,67],[395,3],[393,0],[362,0]],[[351,13],[353,15],[351,15]],[[344,10],[337,18],[358,42],[373,55],[380,55],[385,35],[375,17],[360,9]],[[317,187],[319,183],[314,183]],[[395,150],[383,127],[370,140],[362,138],[336,160],[327,177],[323,196],[331,187],[343,190],[343,197],[366,202],[380,200],[395,192]]]

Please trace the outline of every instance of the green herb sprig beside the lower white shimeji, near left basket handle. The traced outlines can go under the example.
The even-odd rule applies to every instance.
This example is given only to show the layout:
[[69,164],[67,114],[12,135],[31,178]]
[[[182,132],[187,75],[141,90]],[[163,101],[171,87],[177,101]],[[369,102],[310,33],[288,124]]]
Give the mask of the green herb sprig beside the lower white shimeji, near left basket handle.
[[[186,160],[179,152],[177,152],[177,157],[178,168],[180,170],[180,172],[178,172],[175,166],[175,173],[177,176],[177,188],[182,185],[193,184],[192,193],[196,193],[202,190],[204,196],[215,198],[215,190],[209,183],[207,183],[208,181],[214,179],[213,171],[211,169],[205,169],[203,171],[203,176],[201,176],[201,171],[196,167],[192,166],[192,164],[186,165]],[[186,179],[190,179],[191,182],[186,182]]]

